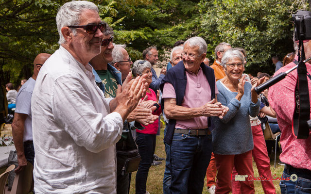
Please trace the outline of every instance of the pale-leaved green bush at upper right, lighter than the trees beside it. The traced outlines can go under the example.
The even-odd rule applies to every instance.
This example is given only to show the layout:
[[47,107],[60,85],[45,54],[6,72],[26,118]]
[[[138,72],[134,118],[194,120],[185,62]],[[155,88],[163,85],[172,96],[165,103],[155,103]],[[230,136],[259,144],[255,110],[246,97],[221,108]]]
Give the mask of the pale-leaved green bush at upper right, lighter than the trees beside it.
[[307,2],[291,0],[201,0],[196,31],[207,41],[208,56],[214,58],[214,48],[228,42],[247,51],[246,71],[272,74],[271,57],[282,60],[294,51],[292,13],[306,6]]

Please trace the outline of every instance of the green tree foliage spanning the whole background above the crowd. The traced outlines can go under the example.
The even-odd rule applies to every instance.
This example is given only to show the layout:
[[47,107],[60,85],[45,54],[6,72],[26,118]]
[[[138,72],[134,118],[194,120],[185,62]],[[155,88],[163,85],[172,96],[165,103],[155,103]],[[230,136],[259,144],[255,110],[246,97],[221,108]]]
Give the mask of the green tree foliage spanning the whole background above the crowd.
[[[32,75],[40,52],[58,48],[55,16],[69,0],[0,0],[0,80],[19,83]],[[272,73],[271,56],[293,51],[291,15],[307,9],[307,0],[93,0],[100,16],[126,44],[133,60],[156,46],[161,55],[177,40],[201,36],[207,56],[220,42],[243,47],[246,70]]]

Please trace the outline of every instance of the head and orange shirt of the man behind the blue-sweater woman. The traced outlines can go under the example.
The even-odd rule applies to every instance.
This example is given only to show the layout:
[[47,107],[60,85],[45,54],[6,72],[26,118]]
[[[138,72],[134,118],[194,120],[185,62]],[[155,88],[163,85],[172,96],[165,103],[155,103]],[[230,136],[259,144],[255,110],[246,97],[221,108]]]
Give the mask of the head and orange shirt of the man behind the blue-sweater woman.
[[225,42],[220,43],[215,48],[216,60],[214,61],[213,65],[211,65],[210,67],[213,68],[215,71],[216,81],[225,77],[225,71],[223,69],[223,66],[221,65],[221,62],[222,62],[222,58],[223,58],[225,51],[228,49],[231,49],[231,45]]

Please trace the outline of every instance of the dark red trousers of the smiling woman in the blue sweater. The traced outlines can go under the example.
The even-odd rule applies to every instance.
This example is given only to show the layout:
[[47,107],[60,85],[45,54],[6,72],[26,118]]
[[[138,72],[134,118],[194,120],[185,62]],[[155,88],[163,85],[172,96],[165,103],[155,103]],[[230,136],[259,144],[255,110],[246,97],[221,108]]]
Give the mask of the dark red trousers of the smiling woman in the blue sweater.
[[[217,181],[215,194],[228,194],[231,192],[231,174],[233,167],[240,176],[247,175],[254,177],[252,150],[238,155],[218,155],[215,154],[217,166]],[[242,194],[255,194],[254,181],[240,181]]]

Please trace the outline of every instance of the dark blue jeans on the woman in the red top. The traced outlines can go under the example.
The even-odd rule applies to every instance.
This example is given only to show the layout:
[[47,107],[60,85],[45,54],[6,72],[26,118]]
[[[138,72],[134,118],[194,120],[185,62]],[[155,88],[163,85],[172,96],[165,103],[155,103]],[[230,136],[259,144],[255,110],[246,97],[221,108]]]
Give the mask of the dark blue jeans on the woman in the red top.
[[146,194],[146,182],[149,168],[154,161],[156,134],[137,133],[136,144],[141,161],[136,174],[136,194]]

